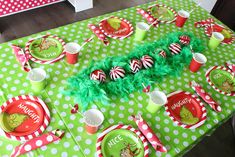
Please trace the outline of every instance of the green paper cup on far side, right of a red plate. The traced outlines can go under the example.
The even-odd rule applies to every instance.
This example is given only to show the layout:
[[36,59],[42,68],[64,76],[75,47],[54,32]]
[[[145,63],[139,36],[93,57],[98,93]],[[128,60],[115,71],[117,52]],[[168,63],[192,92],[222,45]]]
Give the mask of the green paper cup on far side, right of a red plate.
[[135,40],[136,41],[142,41],[144,40],[147,31],[148,31],[149,25],[144,22],[138,22],[136,24],[136,31],[135,31]]

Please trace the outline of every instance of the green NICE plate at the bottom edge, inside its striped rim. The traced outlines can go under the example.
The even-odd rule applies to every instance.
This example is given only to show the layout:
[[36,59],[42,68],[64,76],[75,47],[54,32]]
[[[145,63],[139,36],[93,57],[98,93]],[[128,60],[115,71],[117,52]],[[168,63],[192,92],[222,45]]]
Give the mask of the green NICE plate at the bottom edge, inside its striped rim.
[[[109,132],[101,143],[103,157],[143,157],[144,146],[139,137],[129,130]],[[132,155],[131,155],[132,154]]]

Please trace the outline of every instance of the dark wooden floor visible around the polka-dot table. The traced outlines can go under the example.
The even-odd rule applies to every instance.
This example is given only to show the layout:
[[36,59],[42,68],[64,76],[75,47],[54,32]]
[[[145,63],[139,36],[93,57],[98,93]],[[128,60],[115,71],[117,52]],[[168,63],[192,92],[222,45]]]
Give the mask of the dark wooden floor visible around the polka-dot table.
[[[154,0],[95,0],[93,9],[74,13],[68,2],[0,18],[0,43]],[[231,120],[205,137],[185,157],[235,157]]]

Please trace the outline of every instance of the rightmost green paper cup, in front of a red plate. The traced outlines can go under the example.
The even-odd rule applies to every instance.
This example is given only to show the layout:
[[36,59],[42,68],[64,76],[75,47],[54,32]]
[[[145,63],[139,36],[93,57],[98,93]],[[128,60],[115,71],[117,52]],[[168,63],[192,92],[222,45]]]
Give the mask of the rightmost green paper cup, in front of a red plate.
[[223,34],[221,34],[219,32],[213,32],[211,35],[211,38],[209,40],[208,47],[210,49],[216,49],[216,47],[218,47],[219,44],[221,43],[221,41],[223,41],[223,40],[224,40]]

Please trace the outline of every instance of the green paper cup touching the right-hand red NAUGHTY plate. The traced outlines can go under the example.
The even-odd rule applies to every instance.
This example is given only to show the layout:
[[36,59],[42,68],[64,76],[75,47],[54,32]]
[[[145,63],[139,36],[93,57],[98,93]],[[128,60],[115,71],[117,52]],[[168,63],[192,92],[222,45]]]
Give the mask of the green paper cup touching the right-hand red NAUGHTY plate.
[[149,103],[146,109],[151,113],[155,113],[166,103],[167,96],[165,93],[153,91],[149,94]]

